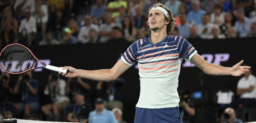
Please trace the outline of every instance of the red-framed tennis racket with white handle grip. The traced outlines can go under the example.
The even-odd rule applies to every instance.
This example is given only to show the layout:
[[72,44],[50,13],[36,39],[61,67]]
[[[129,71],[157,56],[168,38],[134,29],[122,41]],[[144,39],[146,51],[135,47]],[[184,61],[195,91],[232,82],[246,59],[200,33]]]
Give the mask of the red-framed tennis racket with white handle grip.
[[62,69],[57,66],[46,65],[35,67],[35,62],[40,62],[31,50],[21,44],[10,44],[4,47],[0,53],[0,66],[7,73],[21,74],[38,68],[46,68],[68,74],[68,69]]

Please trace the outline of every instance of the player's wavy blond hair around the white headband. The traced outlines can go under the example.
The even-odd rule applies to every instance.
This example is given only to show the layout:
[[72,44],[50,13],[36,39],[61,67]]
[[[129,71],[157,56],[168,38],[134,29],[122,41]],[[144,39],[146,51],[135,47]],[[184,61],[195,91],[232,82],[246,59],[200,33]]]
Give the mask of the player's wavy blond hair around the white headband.
[[[175,23],[176,18],[174,18],[173,12],[172,12],[169,8],[167,8],[166,6],[164,6],[163,4],[161,4],[161,3],[155,3],[155,4],[153,4],[152,7],[150,7],[150,8],[148,9],[148,13],[149,13],[149,11],[150,11],[153,7],[156,7],[156,6],[160,6],[160,7],[164,8],[164,9],[168,12],[168,17],[164,16],[165,20],[166,20],[166,21],[169,21],[169,24],[167,25],[167,31],[166,31],[166,33],[167,33],[167,34],[171,34],[172,31],[173,31],[173,29],[174,29],[174,27],[175,27],[175,24],[176,24],[176,23]],[[146,24],[147,24],[147,26],[149,26],[148,20],[147,20]]]

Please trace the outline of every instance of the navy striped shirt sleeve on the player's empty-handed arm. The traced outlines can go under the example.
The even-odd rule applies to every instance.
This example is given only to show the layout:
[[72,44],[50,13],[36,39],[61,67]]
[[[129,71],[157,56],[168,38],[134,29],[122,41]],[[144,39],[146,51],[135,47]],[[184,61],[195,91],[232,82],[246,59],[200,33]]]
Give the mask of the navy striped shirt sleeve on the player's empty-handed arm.
[[190,44],[185,38],[177,37],[178,41],[178,51],[180,58],[185,59],[185,61],[190,62],[190,59],[197,53],[195,48]]

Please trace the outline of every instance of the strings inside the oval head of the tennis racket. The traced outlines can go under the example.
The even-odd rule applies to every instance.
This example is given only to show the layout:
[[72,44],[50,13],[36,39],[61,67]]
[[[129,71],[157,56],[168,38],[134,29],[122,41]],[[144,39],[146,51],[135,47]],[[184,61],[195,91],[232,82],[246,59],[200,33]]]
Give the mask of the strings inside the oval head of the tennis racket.
[[18,44],[6,47],[0,56],[2,68],[12,73],[21,73],[31,69],[34,62],[34,56],[30,50]]

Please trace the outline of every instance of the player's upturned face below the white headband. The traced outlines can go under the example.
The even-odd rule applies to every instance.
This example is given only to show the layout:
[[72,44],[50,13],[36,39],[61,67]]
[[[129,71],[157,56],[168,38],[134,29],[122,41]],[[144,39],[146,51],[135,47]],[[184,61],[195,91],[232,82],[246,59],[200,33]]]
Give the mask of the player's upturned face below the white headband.
[[[152,10],[149,13],[148,23],[152,31],[160,30],[168,25],[169,22],[165,20],[165,15],[160,10]],[[166,26],[167,27],[167,26]]]

